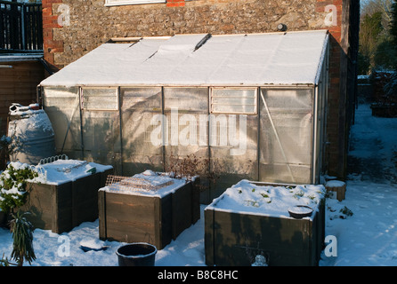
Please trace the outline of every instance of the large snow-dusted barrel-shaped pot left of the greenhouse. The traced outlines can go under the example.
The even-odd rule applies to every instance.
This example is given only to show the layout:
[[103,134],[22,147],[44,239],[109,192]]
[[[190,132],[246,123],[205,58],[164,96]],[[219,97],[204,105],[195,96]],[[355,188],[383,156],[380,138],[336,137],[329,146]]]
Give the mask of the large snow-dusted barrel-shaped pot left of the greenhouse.
[[43,109],[37,104],[10,106],[8,136],[12,138],[12,162],[37,164],[41,159],[55,154],[53,126]]

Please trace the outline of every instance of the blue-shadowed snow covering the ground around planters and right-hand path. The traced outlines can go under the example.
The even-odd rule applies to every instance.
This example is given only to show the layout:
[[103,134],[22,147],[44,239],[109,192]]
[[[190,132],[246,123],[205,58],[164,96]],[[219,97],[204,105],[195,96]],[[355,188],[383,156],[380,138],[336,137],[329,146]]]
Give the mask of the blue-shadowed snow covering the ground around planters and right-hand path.
[[[393,151],[397,151],[397,119],[373,117],[369,106],[361,105],[352,127],[346,198],[341,202],[328,200],[326,235],[336,237],[336,256],[323,253],[320,266],[397,265],[397,154]],[[342,219],[338,209],[344,206],[353,215]],[[204,208],[201,206],[202,212]],[[36,229],[36,261],[31,265],[117,266],[116,250],[122,243],[100,241],[98,235],[98,220],[69,233]],[[82,245],[107,249],[85,252]],[[0,228],[0,254],[9,257],[11,251],[12,234]],[[205,265],[203,215],[176,241],[158,251],[156,265]]]

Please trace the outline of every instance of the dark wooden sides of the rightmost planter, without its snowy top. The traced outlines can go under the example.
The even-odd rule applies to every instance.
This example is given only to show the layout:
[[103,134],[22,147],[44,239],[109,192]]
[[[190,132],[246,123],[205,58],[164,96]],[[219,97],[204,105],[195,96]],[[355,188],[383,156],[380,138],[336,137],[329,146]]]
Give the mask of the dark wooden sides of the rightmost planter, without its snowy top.
[[204,212],[207,265],[249,266],[261,253],[270,266],[318,265],[325,235],[323,201],[312,217],[296,219],[217,209],[222,198]]

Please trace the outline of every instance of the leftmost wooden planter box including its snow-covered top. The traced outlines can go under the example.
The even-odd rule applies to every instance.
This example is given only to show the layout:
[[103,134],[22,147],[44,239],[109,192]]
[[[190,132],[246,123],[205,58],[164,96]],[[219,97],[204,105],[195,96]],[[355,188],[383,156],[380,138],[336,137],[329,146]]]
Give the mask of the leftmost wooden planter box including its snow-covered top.
[[32,168],[38,177],[28,181],[28,201],[22,209],[31,213],[36,228],[63,233],[98,218],[98,190],[113,173],[111,166],[58,160]]

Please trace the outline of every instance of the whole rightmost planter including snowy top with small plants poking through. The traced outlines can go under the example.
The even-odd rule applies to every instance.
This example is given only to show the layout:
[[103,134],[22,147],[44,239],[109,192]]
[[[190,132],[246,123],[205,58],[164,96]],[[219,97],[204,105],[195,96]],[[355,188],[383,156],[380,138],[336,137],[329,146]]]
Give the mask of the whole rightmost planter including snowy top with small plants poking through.
[[[316,265],[324,237],[323,185],[265,185],[241,180],[205,209],[207,265]],[[291,217],[288,209],[312,209]]]

